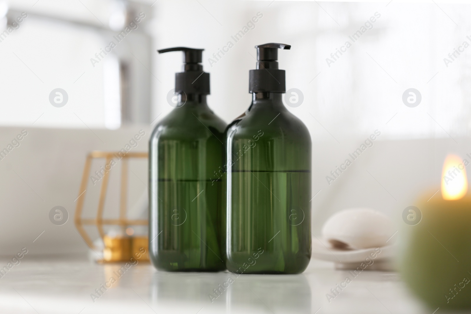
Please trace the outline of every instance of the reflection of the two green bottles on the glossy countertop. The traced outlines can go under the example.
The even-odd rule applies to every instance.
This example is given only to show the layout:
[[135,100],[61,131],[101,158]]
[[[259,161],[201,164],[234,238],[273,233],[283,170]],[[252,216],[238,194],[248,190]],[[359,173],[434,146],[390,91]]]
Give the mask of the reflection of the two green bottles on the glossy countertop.
[[156,304],[198,304],[230,313],[310,313],[311,289],[300,275],[216,274],[152,275],[150,298]]

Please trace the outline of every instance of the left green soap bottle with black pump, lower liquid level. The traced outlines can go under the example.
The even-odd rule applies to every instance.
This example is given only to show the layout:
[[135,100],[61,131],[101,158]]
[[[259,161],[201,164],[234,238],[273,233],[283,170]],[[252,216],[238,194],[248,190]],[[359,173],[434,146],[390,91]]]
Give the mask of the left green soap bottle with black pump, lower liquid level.
[[178,103],[149,141],[149,253],[166,271],[225,269],[221,243],[222,182],[226,123],[206,103],[209,73],[203,49],[185,47],[183,72],[175,74]]

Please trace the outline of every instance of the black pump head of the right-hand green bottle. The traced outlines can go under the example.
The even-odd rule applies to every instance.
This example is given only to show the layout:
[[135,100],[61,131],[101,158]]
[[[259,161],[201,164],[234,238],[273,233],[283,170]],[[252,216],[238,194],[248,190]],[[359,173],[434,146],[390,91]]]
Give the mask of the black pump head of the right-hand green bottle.
[[290,45],[270,42],[257,48],[257,68],[249,71],[249,93],[286,91],[284,70],[278,69],[278,49],[290,49]]

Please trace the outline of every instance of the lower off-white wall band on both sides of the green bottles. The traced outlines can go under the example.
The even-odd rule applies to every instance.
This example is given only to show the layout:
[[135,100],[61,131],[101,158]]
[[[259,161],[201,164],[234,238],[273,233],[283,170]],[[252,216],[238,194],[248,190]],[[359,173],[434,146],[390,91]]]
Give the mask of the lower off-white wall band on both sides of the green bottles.
[[[73,215],[86,154],[92,150],[120,150],[141,129],[146,135],[131,151],[146,152],[150,128],[135,126],[114,131],[0,128],[0,148],[11,143],[22,129],[28,135],[0,160],[0,255],[16,254],[23,247],[38,255],[85,253],[88,247],[76,233]],[[343,145],[313,140],[312,195],[318,193],[312,200],[314,234],[320,233],[327,217],[348,207],[378,209],[402,223],[402,211],[418,195],[432,196],[438,189],[446,153],[457,153],[463,158],[467,158],[466,153],[471,154],[469,138],[456,138],[461,144],[457,147],[452,139],[391,141],[381,137],[330,185],[325,176],[350,158],[349,153],[365,138],[351,137]],[[104,160],[94,162],[91,172],[101,165]],[[147,191],[147,162],[131,163],[130,171],[128,208],[132,209]],[[110,177],[105,217],[118,215],[119,172],[118,162]],[[94,217],[96,213],[99,183],[93,185],[88,178],[83,217]],[[55,206],[63,206],[69,213],[64,225],[54,225],[49,220],[49,211]],[[97,237],[95,227],[87,230],[90,236]]]

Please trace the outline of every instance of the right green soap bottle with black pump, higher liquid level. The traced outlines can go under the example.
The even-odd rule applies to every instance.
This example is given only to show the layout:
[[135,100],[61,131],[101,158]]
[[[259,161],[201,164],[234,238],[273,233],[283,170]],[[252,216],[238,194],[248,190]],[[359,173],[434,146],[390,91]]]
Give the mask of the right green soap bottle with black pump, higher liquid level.
[[299,274],[311,257],[311,138],[283,105],[278,49],[257,48],[252,104],[227,129],[226,267],[239,274]]

